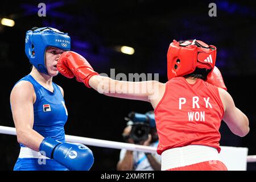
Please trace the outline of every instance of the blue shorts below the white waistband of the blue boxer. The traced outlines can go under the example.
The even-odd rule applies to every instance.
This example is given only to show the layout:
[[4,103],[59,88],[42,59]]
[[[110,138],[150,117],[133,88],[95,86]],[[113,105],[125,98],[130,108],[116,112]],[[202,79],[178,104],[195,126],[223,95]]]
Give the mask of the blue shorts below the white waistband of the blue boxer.
[[68,168],[57,163],[53,159],[45,159],[45,163],[39,164],[37,158],[18,158],[14,171],[68,171]]

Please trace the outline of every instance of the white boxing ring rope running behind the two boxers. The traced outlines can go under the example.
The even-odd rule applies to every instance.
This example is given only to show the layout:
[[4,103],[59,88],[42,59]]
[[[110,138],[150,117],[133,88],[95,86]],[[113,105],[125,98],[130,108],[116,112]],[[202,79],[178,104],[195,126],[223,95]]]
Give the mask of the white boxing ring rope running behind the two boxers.
[[[16,129],[14,127],[0,126],[0,134],[16,135]],[[82,143],[82,144],[86,144],[89,146],[115,148],[115,149],[120,149],[120,150],[122,148],[125,148],[126,150],[151,152],[151,153],[156,152],[155,147],[142,146],[139,144],[113,142],[113,141],[109,141],[109,140],[77,137],[77,136],[73,136],[73,135],[65,135],[65,138],[66,138],[67,142]],[[253,163],[253,162],[256,162],[256,155],[248,155],[247,163]]]

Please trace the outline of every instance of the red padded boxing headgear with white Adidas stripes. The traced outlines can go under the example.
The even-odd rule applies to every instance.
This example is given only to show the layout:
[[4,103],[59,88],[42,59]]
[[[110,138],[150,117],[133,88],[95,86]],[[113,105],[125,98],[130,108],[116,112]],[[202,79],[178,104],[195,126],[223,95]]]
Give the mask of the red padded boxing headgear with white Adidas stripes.
[[[212,72],[216,61],[216,47],[200,40],[174,40],[167,52],[168,80],[188,75],[196,68],[209,69]],[[208,74],[209,74],[208,73]]]

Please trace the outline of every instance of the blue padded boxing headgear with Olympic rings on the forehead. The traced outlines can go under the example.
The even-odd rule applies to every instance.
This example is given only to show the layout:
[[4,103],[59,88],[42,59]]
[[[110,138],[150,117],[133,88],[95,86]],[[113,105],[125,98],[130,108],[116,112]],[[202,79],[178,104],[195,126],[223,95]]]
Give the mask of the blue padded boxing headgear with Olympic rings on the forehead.
[[48,75],[45,64],[47,47],[56,47],[64,51],[69,51],[71,48],[70,42],[71,39],[67,33],[50,27],[34,27],[26,33],[25,52],[30,63],[39,72]]

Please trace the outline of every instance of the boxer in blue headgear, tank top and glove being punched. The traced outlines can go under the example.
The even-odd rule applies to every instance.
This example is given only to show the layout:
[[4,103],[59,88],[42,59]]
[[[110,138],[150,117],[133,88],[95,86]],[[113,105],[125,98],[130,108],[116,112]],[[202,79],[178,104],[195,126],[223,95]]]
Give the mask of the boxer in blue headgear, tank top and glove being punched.
[[89,170],[92,151],[80,143],[65,142],[68,118],[63,89],[52,82],[57,59],[71,48],[68,34],[55,28],[27,31],[25,52],[32,71],[14,85],[10,95],[20,154],[15,171]]

